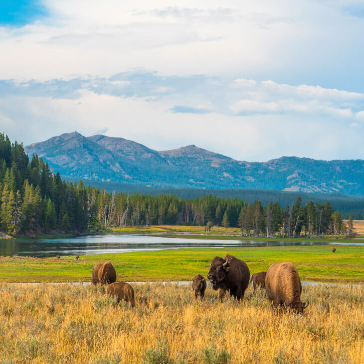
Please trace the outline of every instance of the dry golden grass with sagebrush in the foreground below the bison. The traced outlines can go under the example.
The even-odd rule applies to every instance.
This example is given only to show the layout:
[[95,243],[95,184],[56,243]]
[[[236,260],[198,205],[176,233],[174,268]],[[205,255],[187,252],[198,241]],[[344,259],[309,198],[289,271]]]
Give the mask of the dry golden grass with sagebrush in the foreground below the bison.
[[275,315],[263,291],[224,304],[207,288],[0,284],[1,363],[363,363],[364,286],[307,286],[304,315]]

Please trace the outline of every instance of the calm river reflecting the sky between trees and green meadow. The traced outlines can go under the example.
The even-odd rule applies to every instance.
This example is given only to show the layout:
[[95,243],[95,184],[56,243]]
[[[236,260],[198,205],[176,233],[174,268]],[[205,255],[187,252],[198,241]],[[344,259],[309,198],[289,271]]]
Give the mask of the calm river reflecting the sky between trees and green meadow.
[[218,240],[193,239],[186,237],[156,235],[93,235],[76,238],[58,239],[3,239],[0,241],[0,255],[49,257],[59,255],[83,255],[122,253],[128,251],[180,249],[198,247],[239,247],[239,246],[287,246],[287,245],[319,245],[350,244],[328,241],[258,241],[258,240]]

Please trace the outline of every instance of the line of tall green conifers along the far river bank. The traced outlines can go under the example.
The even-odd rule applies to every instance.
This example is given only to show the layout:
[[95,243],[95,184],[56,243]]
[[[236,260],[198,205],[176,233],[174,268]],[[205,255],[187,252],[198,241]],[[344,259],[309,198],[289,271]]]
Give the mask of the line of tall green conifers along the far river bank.
[[26,155],[23,145],[0,134],[0,230],[9,235],[51,231],[87,231],[139,225],[213,225],[240,227],[242,235],[299,236],[353,234],[330,202],[301,197],[284,209],[278,202],[213,195],[180,198],[175,195],[108,193],[81,182],[62,181],[48,163]]

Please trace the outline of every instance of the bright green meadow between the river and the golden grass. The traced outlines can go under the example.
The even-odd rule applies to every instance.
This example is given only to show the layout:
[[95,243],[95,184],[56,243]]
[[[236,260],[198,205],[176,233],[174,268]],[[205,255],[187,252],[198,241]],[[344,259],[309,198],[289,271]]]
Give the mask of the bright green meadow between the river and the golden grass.
[[178,281],[206,275],[214,256],[231,253],[243,259],[251,273],[267,270],[275,263],[290,261],[302,280],[323,282],[363,282],[364,246],[283,246],[168,249],[117,254],[55,258],[0,258],[2,282],[80,282],[90,281],[95,263],[110,260],[118,280]]

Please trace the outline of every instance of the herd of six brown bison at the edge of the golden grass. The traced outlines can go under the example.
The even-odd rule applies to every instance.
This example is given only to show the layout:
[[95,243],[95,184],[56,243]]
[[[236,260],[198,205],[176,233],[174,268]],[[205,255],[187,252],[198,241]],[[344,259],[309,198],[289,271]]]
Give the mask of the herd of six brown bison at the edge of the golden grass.
[[[230,292],[230,296],[241,300],[249,283],[253,282],[254,290],[257,286],[265,288],[268,300],[275,309],[303,313],[307,307],[307,303],[301,301],[302,285],[297,269],[290,262],[275,263],[267,272],[254,273],[251,278],[246,263],[230,254],[224,258],[213,258],[210,266],[207,278],[212,288],[219,291],[221,302],[226,291]],[[125,300],[132,307],[135,306],[133,287],[127,282],[116,282],[116,271],[110,262],[95,264],[91,283],[107,284],[108,295],[115,296],[117,302]],[[200,296],[203,300],[206,286],[206,280],[201,274],[193,278],[192,288],[196,299]]]

